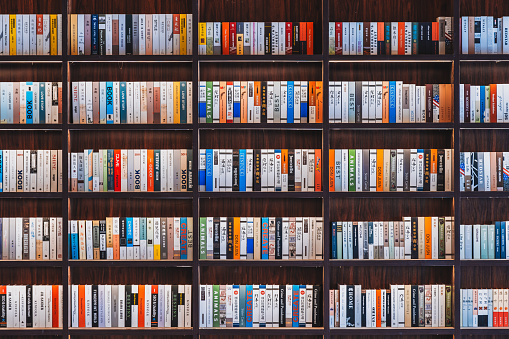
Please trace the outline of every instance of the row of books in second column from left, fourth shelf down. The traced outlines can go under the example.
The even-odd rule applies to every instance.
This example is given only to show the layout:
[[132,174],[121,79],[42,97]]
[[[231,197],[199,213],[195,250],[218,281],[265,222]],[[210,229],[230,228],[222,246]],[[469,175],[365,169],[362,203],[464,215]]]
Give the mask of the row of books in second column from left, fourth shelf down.
[[69,226],[69,259],[193,259],[192,217],[107,217]]

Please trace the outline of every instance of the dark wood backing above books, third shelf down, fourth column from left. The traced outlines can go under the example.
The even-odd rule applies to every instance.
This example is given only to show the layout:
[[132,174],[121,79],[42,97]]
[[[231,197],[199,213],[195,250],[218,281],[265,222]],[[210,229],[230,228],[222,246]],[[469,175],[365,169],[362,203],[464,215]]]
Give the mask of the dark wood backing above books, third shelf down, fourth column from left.
[[334,130],[330,133],[330,149],[453,147],[451,130]]

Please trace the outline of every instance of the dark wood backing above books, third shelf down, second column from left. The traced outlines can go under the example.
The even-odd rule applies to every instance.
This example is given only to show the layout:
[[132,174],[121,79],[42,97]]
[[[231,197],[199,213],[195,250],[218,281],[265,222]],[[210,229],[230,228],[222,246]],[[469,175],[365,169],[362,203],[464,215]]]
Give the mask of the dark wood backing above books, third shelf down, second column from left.
[[73,131],[71,152],[84,149],[179,149],[192,148],[191,131]]

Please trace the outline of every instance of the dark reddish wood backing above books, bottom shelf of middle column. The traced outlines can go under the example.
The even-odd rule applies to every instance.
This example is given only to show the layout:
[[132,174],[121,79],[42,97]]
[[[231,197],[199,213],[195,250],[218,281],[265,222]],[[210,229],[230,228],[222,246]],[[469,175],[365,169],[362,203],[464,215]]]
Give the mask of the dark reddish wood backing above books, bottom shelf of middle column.
[[323,285],[321,267],[200,267],[200,284]]

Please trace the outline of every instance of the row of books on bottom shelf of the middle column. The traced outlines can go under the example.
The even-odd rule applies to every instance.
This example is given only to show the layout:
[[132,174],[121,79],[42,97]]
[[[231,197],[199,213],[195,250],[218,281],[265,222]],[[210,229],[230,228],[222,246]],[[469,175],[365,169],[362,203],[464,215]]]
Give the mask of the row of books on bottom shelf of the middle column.
[[200,285],[200,327],[321,327],[318,285]]

